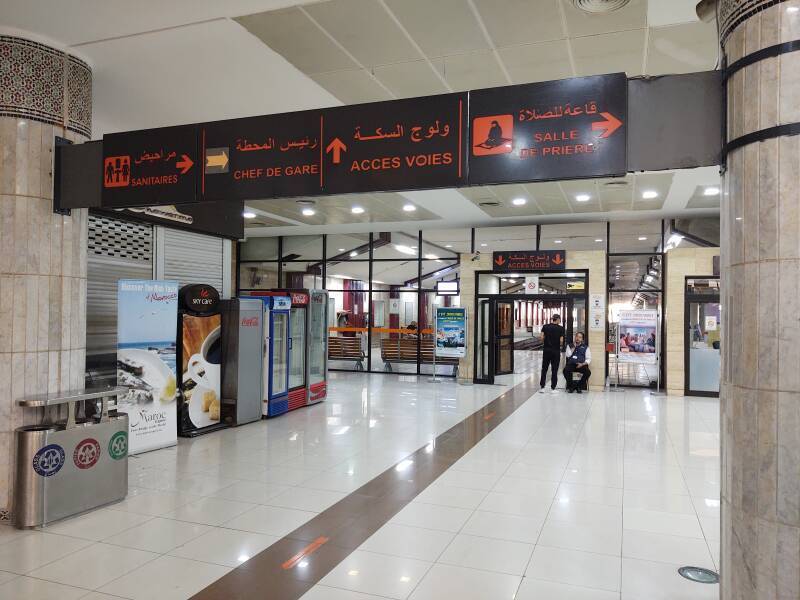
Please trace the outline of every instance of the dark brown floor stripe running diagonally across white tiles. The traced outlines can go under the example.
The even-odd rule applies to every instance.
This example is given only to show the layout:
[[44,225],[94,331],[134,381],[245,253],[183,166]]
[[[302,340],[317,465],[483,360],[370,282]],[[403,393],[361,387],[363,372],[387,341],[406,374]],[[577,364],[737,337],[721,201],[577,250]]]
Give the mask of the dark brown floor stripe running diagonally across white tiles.
[[538,390],[535,379],[514,386],[439,435],[432,448],[407,456],[403,460],[413,461],[408,469],[390,467],[192,600],[297,600],[522,406]]

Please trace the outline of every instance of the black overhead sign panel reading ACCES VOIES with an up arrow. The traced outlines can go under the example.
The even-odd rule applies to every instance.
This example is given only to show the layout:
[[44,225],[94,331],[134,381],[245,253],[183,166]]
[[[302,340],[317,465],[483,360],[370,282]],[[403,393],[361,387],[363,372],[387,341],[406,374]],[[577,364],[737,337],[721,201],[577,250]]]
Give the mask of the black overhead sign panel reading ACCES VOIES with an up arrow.
[[326,110],[325,193],[465,184],[466,112],[466,93]]

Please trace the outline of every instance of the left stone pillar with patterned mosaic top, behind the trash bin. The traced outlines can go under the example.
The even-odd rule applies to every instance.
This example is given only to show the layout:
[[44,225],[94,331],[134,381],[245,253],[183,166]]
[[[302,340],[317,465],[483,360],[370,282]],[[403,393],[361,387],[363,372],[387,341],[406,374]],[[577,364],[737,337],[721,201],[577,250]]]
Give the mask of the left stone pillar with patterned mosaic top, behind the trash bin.
[[16,401],[83,386],[88,213],[53,213],[53,157],[56,136],[88,139],[91,85],[83,61],[0,36],[0,517],[12,508]]

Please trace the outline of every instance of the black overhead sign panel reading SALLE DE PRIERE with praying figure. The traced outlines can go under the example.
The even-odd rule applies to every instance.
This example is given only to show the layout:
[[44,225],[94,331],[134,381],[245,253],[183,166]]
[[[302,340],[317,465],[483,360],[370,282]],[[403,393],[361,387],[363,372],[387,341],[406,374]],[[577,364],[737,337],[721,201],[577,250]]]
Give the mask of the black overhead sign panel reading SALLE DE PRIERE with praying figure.
[[624,73],[470,92],[469,183],[627,172]]

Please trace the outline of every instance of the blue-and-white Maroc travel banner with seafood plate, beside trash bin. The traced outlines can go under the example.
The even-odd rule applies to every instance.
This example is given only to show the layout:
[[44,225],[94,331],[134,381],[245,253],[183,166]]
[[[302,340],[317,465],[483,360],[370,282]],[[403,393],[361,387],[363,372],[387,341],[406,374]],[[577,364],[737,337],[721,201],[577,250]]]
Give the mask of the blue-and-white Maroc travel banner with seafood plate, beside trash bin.
[[177,443],[175,340],[178,282],[121,279],[117,284],[117,384],[128,388],[129,453]]

